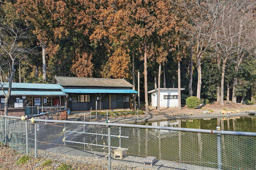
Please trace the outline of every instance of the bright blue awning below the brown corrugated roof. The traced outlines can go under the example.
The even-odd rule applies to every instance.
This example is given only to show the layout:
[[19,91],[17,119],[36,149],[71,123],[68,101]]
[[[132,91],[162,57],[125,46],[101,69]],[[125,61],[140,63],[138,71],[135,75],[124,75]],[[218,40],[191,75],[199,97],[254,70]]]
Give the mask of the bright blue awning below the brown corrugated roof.
[[138,94],[132,89],[61,89],[66,93],[73,94]]

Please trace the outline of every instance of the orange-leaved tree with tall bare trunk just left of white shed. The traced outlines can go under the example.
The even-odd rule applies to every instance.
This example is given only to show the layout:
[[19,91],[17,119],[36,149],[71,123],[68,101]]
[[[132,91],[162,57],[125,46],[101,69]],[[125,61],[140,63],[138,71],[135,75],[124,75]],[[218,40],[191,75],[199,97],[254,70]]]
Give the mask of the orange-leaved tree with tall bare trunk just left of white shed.
[[[155,35],[165,35],[173,30],[175,26],[175,13],[170,1],[129,1],[123,12],[122,26],[125,28],[125,35],[122,38],[130,40],[138,37],[141,41],[144,60],[144,88],[145,107],[148,110],[148,83],[147,83],[147,60],[154,54],[150,52]],[[154,46],[154,45],[153,45]]]

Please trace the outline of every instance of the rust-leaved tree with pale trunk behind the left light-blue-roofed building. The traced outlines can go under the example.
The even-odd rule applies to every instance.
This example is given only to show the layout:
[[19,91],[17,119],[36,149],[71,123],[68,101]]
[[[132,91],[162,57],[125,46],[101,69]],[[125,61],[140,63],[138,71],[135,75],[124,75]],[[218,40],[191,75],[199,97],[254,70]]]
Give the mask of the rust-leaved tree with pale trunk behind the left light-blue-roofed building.
[[[51,40],[60,38],[67,34],[65,29],[65,8],[63,1],[25,1],[18,0],[15,4],[18,13],[26,19],[28,23],[33,23],[34,34],[42,47],[43,60],[43,81],[46,81],[46,53],[53,51]],[[46,49],[46,46],[50,49]]]

